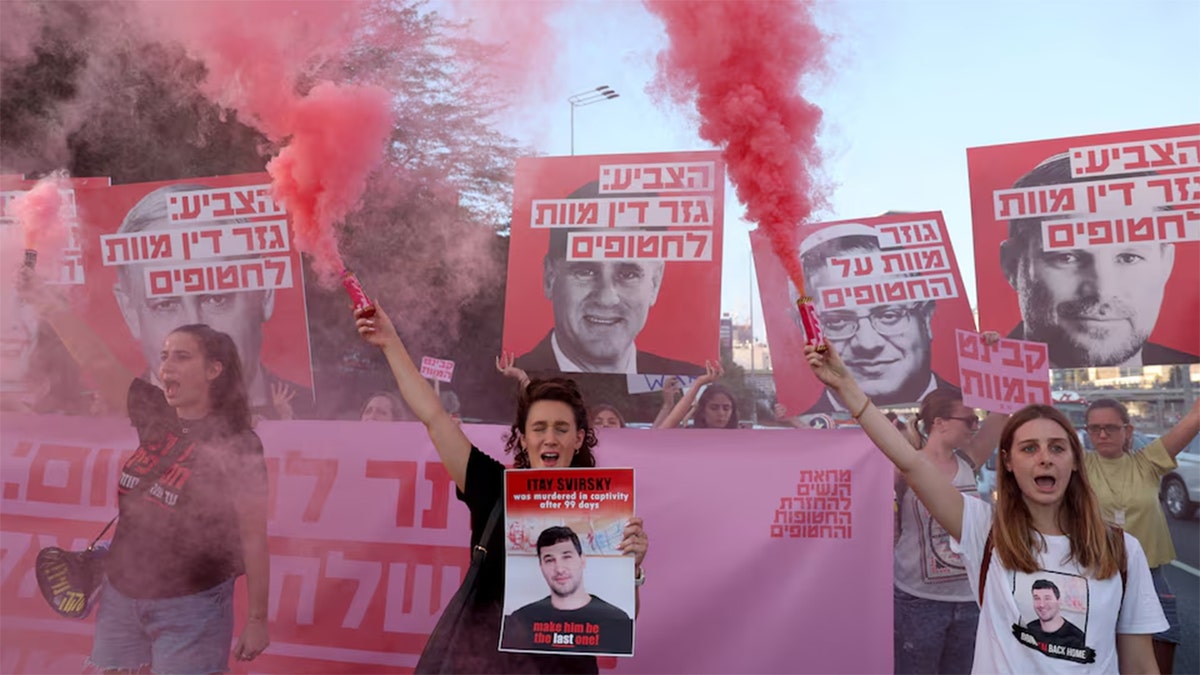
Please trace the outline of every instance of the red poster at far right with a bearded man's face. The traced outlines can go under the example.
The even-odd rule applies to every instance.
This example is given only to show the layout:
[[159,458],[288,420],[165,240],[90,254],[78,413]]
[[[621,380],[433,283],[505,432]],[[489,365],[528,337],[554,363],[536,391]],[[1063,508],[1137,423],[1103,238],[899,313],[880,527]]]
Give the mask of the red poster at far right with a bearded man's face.
[[979,317],[1051,368],[1200,360],[1200,126],[967,150]]

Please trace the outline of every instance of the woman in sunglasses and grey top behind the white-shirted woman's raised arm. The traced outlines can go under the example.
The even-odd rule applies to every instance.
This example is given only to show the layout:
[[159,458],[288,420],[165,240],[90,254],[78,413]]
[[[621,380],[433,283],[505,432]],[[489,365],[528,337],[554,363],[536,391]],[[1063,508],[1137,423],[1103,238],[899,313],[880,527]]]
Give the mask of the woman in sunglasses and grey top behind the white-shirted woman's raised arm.
[[[997,333],[985,333],[995,344]],[[916,447],[962,494],[978,496],[976,468],[991,456],[1007,414],[989,414],[980,424],[962,392],[938,388],[920,401]],[[895,671],[970,673],[979,605],[950,536],[938,525],[896,472]]]

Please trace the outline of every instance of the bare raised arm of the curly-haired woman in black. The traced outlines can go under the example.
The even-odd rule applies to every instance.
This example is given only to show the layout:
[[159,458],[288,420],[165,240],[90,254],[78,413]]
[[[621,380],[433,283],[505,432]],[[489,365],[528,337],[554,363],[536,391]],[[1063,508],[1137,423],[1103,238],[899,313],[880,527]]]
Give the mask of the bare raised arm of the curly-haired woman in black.
[[425,429],[433,441],[433,447],[442,458],[446,472],[460,490],[467,486],[467,460],[470,458],[470,441],[462,432],[462,428],[450,417],[450,413],[442,407],[442,398],[438,396],[428,381],[421,377],[421,371],[408,356],[408,350],[396,334],[396,327],[391,318],[378,304],[374,305],[376,313],[372,317],[364,317],[365,310],[354,312],[359,335],[368,345],[379,347],[388,358],[391,366],[391,375],[396,378],[400,395],[413,410],[416,419],[425,424]]

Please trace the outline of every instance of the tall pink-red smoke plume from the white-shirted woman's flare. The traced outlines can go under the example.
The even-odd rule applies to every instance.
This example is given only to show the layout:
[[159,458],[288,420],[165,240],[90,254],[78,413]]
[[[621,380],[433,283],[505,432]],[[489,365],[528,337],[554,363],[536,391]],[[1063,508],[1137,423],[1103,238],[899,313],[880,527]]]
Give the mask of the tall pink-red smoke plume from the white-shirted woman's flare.
[[748,217],[804,291],[797,229],[820,202],[814,174],[821,109],[798,91],[824,66],[811,2],[646,0],[671,41],[655,86],[695,101],[701,138],[721,148]]

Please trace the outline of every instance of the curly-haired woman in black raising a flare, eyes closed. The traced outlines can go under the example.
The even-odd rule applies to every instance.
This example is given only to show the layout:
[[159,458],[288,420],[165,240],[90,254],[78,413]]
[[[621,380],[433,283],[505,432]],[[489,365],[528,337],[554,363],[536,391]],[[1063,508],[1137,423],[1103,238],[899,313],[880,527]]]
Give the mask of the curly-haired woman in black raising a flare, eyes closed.
[[[374,310],[373,316],[370,316],[370,309]],[[368,310],[355,312],[359,334],[366,342],[383,350],[400,395],[425,424],[442,464],[458,489],[458,498],[470,509],[472,546],[482,545],[492,551],[484,557],[476,602],[467,610],[466,637],[451,655],[455,659],[451,671],[598,673],[594,656],[515,653],[497,649],[504,604],[504,528],[493,528],[487,542],[480,542],[480,538],[488,516],[503,500],[505,466],[475,448],[462,426],[442,407],[442,401],[421,377],[388,313],[378,305]],[[534,380],[521,388],[516,420],[505,444],[505,452],[514,455],[514,468],[595,466],[595,431],[574,382]],[[619,548],[634,556],[638,590],[646,579],[642,561],[648,546],[642,519],[631,518]]]

